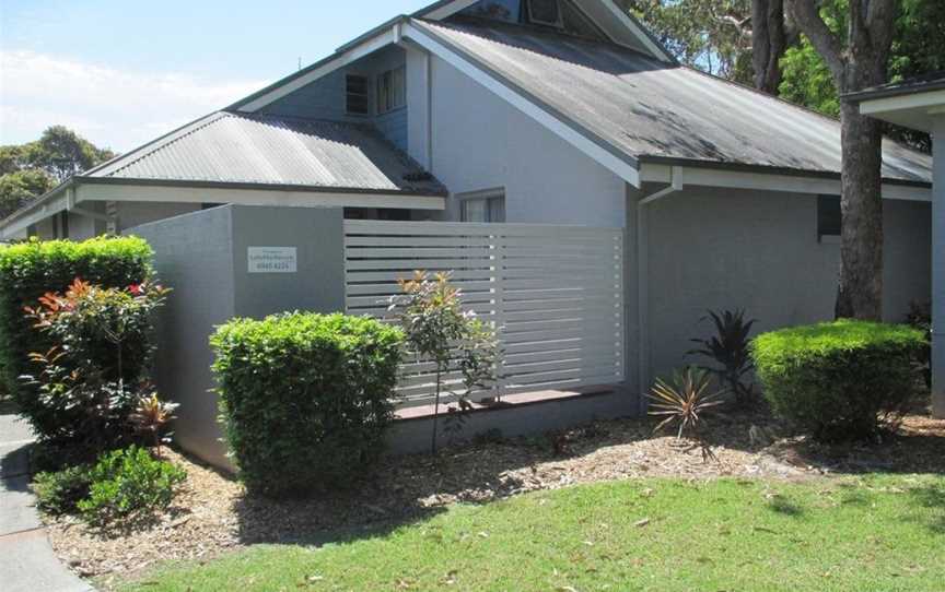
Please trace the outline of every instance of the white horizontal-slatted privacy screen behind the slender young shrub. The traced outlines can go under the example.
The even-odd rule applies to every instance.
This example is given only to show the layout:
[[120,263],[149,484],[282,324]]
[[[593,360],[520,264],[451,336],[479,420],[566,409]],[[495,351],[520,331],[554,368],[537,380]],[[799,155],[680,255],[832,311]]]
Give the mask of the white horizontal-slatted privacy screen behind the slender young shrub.
[[[478,399],[623,380],[619,228],[346,221],[345,257],[349,315],[389,318],[398,279],[452,272],[464,306],[500,328],[503,379]],[[404,365],[401,406],[431,402],[432,369]]]

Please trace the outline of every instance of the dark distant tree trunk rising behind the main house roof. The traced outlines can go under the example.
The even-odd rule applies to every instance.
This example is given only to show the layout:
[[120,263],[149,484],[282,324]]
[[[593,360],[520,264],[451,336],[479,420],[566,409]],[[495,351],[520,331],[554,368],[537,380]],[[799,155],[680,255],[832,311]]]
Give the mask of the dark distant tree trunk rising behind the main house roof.
[[751,2],[751,66],[755,87],[770,95],[781,85],[781,57],[788,49],[784,0]]

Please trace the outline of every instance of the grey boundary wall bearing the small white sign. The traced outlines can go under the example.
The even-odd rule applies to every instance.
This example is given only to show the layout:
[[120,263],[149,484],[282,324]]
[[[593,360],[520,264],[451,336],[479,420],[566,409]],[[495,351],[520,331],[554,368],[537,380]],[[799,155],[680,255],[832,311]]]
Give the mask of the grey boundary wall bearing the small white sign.
[[[208,340],[233,317],[343,308],[340,209],[224,205],[131,228],[148,240],[155,268],[172,287],[159,327],[155,379],[178,403],[175,437],[185,449],[229,466],[210,392]],[[296,247],[296,273],[248,273],[246,247]]]

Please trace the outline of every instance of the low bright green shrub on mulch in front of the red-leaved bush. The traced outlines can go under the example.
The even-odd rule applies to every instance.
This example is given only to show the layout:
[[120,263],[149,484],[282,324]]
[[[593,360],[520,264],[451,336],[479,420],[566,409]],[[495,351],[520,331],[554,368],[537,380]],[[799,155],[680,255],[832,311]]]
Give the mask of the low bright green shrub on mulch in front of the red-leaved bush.
[[77,508],[85,520],[100,526],[165,509],[187,477],[183,469],[137,446],[103,454],[89,474],[89,496],[79,500]]

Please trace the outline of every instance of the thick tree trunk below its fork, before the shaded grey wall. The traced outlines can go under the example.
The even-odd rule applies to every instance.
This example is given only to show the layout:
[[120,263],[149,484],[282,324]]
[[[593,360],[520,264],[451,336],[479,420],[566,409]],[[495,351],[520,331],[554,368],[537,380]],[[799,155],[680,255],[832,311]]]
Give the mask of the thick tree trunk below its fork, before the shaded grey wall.
[[840,283],[837,318],[883,319],[883,200],[879,121],[860,115],[859,105],[840,110],[841,171]]

